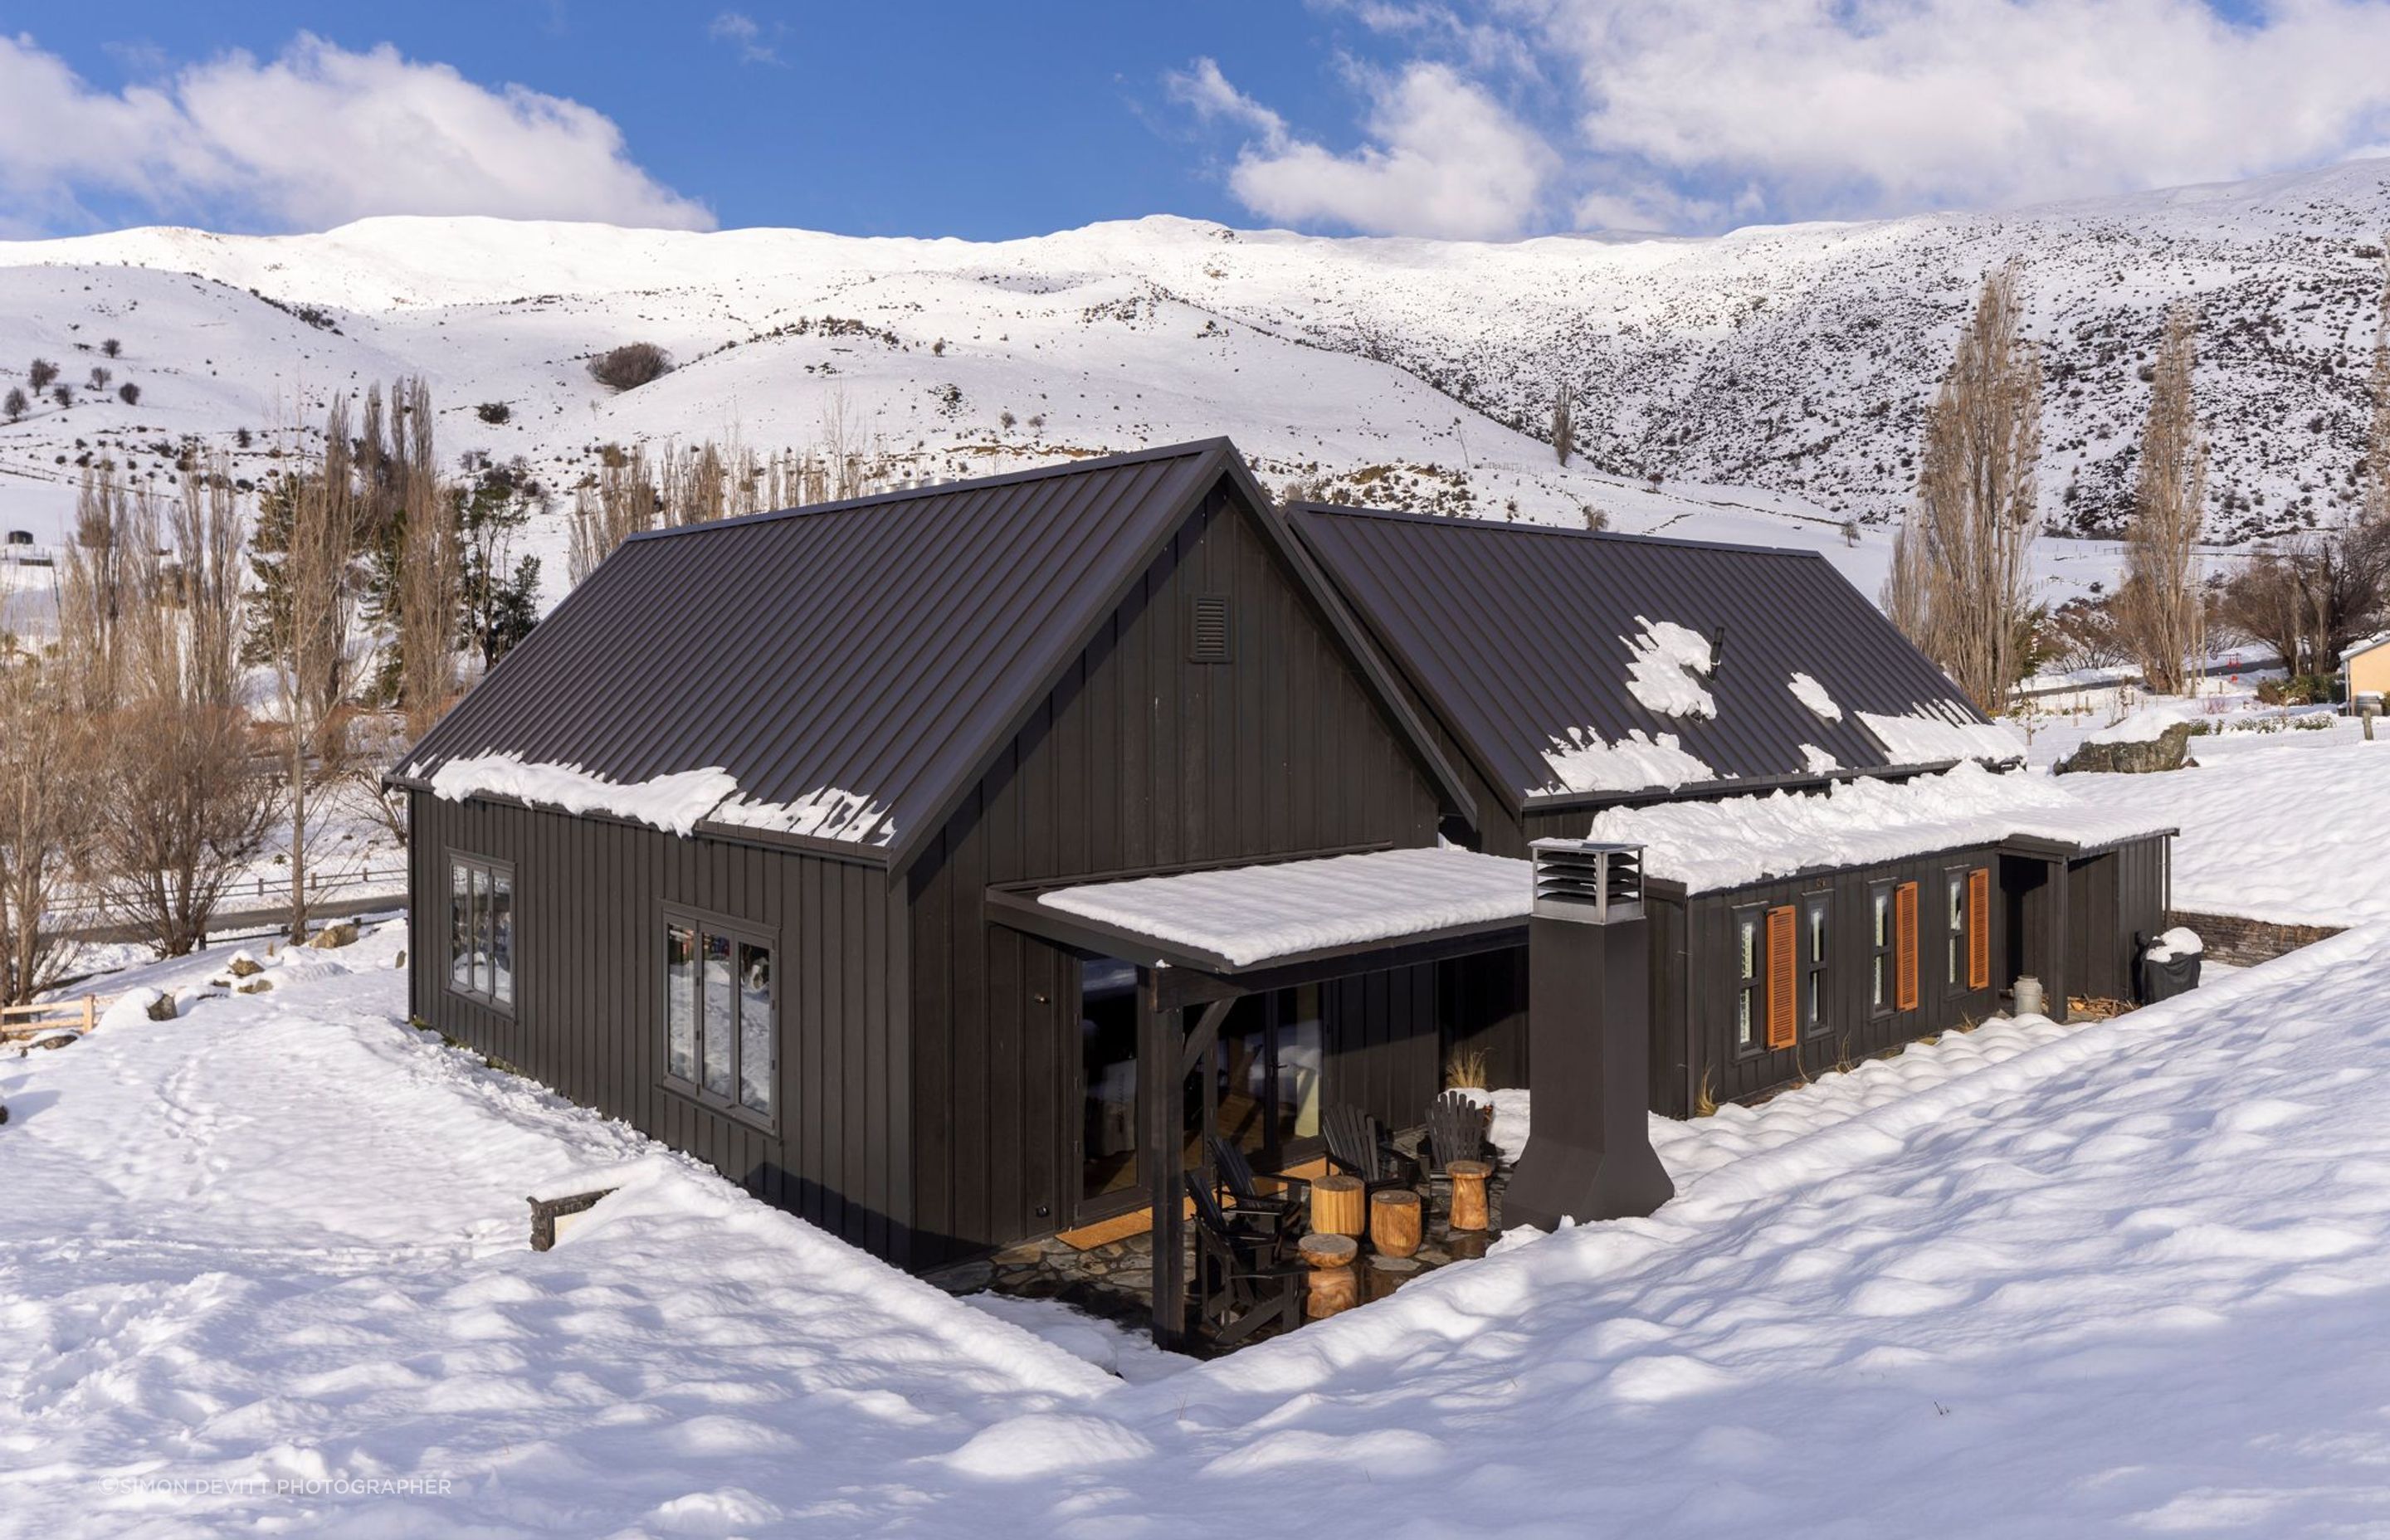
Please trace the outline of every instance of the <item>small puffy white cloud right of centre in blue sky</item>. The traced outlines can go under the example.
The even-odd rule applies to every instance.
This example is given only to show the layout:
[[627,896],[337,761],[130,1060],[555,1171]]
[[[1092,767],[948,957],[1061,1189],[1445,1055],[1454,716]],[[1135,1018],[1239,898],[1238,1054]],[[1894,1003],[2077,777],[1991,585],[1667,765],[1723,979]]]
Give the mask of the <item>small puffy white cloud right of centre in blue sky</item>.
[[1358,79],[1369,93],[1362,122],[1369,143],[1348,155],[1293,139],[1276,112],[1236,91],[1212,60],[1171,77],[1171,91],[1250,134],[1228,189],[1267,220],[1503,239],[1537,218],[1556,165],[1551,148],[1482,86],[1439,62]]

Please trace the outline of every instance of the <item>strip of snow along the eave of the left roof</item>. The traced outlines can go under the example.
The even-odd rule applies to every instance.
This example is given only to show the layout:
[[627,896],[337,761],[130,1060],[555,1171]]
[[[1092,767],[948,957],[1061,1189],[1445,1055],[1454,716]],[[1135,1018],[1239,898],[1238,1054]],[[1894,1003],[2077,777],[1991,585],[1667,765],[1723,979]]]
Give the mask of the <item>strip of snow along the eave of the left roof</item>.
[[626,818],[669,835],[688,835],[700,823],[719,820],[870,844],[896,837],[896,825],[882,823],[887,808],[860,792],[820,787],[789,803],[753,801],[739,792],[739,777],[722,768],[617,782],[581,765],[540,765],[519,753],[480,753],[433,770],[430,789],[442,801],[514,796],[564,813]]

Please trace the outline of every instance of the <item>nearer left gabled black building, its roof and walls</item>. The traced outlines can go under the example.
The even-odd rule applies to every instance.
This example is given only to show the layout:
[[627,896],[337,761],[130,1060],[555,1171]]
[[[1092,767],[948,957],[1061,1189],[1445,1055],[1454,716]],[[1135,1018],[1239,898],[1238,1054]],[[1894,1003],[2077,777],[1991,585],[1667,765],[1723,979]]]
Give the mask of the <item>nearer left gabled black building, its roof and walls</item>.
[[[676,837],[433,794],[480,756],[621,784],[719,768],[758,803],[868,811]],[[911,1265],[1080,1200],[1080,957],[989,890],[1475,827],[1224,440],[636,538],[392,782],[423,1021]],[[452,858],[509,873],[511,1004],[449,988]],[[770,1117],[743,1078],[715,1105],[667,1076],[667,916],[770,947]],[[1326,1095],[1412,1117],[1434,995],[1432,964],[1322,985]]]

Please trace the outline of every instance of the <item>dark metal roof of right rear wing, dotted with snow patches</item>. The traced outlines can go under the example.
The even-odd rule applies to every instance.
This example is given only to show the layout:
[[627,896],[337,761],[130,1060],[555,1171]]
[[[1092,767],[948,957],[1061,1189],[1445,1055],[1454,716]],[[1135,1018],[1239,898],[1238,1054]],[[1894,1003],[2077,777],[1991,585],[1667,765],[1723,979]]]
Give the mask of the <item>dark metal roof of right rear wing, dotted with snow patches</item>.
[[[1704,787],[1826,780],[1802,744],[1850,770],[1893,770],[1862,710],[1943,705],[1984,720],[1816,552],[1319,505],[1288,509],[1288,524],[1513,811],[1561,801],[1546,801],[1544,751],[1570,727],[1604,741],[1675,734],[1718,772]],[[1716,717],[1659,715],[1628,691],[1628,638],[1644,619],[1702,636],[1726,627],[1706,682]],[[1826,686],[1840,722],[1792,696],[1795,672]],[[1618,794],[1582,794],[1601,799]]]

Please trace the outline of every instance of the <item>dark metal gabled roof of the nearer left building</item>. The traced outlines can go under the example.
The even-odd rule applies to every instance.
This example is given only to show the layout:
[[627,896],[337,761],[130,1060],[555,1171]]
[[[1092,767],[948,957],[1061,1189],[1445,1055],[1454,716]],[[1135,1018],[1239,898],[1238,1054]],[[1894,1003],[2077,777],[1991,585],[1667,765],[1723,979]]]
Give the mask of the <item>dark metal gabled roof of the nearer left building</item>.
[[[664,827],[827,837],[903,866],[1224,478],[1470,813],[1228,440],[633,536],[392,780],[581,811],[645,787]],[[724,784],[736,796],[700,818],[691,799]]]

